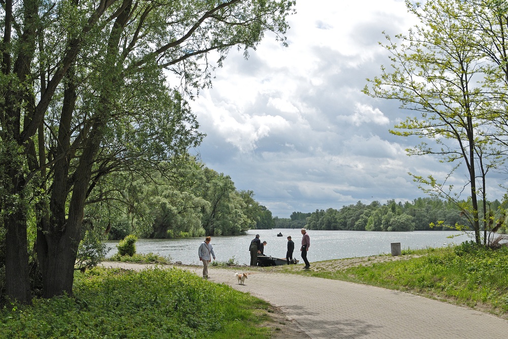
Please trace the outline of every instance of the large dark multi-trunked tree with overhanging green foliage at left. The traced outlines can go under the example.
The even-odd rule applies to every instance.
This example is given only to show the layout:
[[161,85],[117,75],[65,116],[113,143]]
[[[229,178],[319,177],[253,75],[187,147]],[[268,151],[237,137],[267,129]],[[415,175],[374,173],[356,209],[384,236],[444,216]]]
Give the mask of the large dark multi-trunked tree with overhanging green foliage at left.
[[[153,173],[202,135],[185,102],[210,52],[284,43],[293,1],[12,0],[0,27],[0,224],[6,292],[29,303],[27,225],[43,295],[72,294],[83,210],[115,172]],[[167,83],[166,72],[179,76]],[[180,89],[177,90],[176,87]],[[91,193],[94,193],[93,195]]]

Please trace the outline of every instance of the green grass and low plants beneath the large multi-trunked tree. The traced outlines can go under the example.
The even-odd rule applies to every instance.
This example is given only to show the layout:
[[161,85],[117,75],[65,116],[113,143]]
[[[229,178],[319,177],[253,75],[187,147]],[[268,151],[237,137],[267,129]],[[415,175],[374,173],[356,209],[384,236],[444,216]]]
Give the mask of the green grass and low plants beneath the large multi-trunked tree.
[[3,338],[269,338],[269,304],[171,269],[76,272],[75,297],[0,311]]

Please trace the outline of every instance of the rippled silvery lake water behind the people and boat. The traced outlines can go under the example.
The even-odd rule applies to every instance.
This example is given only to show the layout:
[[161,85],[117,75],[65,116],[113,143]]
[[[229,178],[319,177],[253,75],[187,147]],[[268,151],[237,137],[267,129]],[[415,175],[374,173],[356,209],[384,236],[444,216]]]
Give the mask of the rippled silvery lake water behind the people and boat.
[[[278,237],[281,232],[283,236]],[[295,242],[293,257],[302,262],[300,246],[302,234],[300,229],[249,230],[247,235],[212,237],[211,244],[216,260],[228,261],[235,258],[239,264],[250,263],[248,247],[256,234],[261,241],[266,241],[265,255],[285,258],[288,248],[287,236]],[[379,254],[390,254],[391,243],[400,242],[402,250],[437,248],[451,243],[461,243],[471,238],[462,232],[455,231],[415,231],[415,232],[367,232],[367,231],[312,231],[309,230],[310,249],[307,259],[310,262],[330,259],[367,257]],[[455,236],[449,238],[450,236]],[[139,239],[136,242],[137,253],[158,253],[169,256],[172,262],[181,261],[186,265],[201,263],[198,248],[203,238],[184,239]],[[118,241],[106,241],[110,247],[107,256],[117,252]]]

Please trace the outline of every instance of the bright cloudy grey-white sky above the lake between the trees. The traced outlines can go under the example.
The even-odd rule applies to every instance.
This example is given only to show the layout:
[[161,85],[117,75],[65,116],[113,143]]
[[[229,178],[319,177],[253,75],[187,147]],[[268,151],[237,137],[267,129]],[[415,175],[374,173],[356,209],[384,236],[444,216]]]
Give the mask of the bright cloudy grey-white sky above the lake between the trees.
[[[213,87],[191,103],[207,135],[196,149],[201,161],[279,218],[425,197],[408,172],[443,178],[449,167],[408,157],[422,140],[389,130],[409,113],[361,91],[389,65],[383,32],[416,23],[404,1],[297,0],[296,10],[289,47],[266,34],[247,60],[232,50]],[[449,183],[462,186],[464,177]]]

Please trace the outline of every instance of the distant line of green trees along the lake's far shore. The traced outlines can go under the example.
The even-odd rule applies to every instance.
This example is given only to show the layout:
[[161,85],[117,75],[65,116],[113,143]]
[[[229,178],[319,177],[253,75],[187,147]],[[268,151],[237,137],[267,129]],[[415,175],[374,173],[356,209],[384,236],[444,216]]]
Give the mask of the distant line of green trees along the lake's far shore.
[[[501,210],[498,200],[488,205],[491,210]],[[275,217],[274,221],[277,228],[388,232],[464,230],[470,225],[456,202],[435,197],[418,198],[405,203],[389,200],[383,205],[378,201],[369,205],[359,201],[339,210],[328,208],[316,209],[312,213],[293,212],[289,219]],[[497,232],[505,233],[506,226],[501,225]]]

